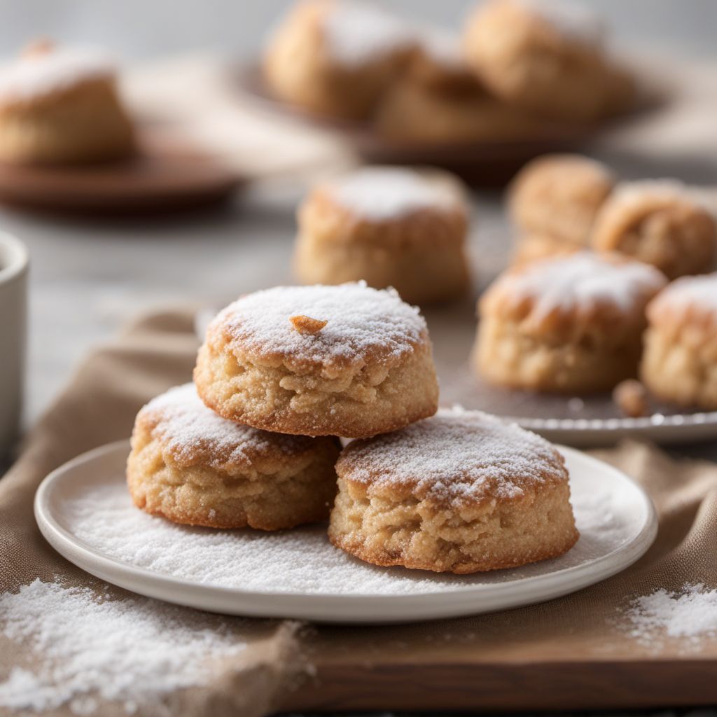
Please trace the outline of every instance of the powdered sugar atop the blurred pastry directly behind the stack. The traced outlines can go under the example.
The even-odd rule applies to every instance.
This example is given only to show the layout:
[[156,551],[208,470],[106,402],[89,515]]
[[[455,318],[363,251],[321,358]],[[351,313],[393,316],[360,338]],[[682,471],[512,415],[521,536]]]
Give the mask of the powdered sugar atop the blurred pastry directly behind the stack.
[[338,204],[376,221],[402,217],[419,209],[455,206],[457,195],[445,181],[410,169],[366,167],[328,186]]

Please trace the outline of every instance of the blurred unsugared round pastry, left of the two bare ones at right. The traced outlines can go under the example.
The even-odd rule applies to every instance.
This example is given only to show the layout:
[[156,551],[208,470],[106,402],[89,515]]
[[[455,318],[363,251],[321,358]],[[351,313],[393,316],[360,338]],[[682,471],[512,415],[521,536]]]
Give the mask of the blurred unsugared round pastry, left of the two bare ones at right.
[[524,234],[587,247],[600,207],[615,183],[604,164],[579,154],[528,162],[508,191],[508,212]]

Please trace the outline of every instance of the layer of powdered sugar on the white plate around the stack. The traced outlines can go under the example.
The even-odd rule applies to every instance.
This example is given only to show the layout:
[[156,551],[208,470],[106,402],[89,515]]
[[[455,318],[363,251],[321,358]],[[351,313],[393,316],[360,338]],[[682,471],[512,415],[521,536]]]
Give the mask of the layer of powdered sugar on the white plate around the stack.
[[617,549],[635,533],[632,513],[609,488],[571,482],[581,538],[557,559],[475,576],[432,574],[362,563],[331,546],[326,526],[292,531],[215,531],[179,526],[135,508],[119,477],[87,485],[62,506],[64,526],[82,543],[127,564],[231,589],[292,594],[407,595],[460,591],[545,574]]

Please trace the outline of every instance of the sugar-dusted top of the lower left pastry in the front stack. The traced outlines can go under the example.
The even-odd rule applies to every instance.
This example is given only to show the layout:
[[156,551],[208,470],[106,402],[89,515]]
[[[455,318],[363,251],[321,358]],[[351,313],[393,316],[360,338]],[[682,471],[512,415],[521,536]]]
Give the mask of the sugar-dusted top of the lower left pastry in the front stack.
[[228,462],[248,466],[257,456],[301,452],[312,441],[224,419],[201,402],[194,384],[176,386],[151,400],[138,414],[138,420],[144,418],[151,419],[153,435],[165,443],[180,465],[201,459],[219,469]]

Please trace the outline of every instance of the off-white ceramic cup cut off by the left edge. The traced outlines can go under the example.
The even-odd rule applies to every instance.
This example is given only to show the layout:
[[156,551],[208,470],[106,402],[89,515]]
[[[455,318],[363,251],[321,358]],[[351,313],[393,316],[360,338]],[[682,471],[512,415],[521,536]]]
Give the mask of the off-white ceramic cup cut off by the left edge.
[[27,343],[25,245],[0,232],[0,459],[19,433]]

